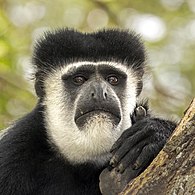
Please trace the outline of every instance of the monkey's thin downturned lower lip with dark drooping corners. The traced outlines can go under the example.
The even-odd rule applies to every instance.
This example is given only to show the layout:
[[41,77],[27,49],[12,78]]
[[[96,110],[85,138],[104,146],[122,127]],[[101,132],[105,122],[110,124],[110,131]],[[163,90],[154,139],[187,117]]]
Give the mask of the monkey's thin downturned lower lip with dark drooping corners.
[[121,120],[120,114],[117,115],[113,112],[110,112],[110,111],[104,110],[104,109],[95,109],[95,110],[90,110],[90,111],[86,111],[86,112],[79,112],[79,114],[77,114],[75,117],[75,123],[79,126],[83,126],[88,117],[98,116],[102,113],[107,115],[109,119],[113,120],[114,124],[116,124],[116,125]]

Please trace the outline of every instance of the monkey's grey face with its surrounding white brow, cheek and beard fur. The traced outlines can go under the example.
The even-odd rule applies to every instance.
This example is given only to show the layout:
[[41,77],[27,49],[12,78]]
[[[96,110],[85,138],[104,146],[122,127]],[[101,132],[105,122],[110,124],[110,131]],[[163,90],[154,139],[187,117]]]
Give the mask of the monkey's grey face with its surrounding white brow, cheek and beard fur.
[[114,142],[131,126],[132,70],[115,62],[75,62],[44,83],[45,123],[54,145],[72,162],[107,161]]

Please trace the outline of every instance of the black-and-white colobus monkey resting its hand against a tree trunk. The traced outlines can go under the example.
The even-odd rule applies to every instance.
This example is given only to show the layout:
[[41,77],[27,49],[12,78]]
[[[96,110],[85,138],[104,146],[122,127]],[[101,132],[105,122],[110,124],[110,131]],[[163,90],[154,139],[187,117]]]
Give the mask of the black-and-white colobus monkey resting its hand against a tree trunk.
[[105,167],[139,174],[175,128],[148,114],[130,117],[145,66],[132,32],[47,32],[32,62],[38,103],[0,140],[2,195],[101,194]]

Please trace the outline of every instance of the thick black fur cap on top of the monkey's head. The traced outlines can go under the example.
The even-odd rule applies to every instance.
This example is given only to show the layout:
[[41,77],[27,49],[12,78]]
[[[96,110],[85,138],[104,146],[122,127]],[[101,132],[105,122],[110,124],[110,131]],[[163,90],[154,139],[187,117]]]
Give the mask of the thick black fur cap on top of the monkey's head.
[[93,33],[59,29],[46,32],[34,47],[33,64],[38,71],[79,61],[116,61],[140,70],[145,49],[138,35],[119,29]]

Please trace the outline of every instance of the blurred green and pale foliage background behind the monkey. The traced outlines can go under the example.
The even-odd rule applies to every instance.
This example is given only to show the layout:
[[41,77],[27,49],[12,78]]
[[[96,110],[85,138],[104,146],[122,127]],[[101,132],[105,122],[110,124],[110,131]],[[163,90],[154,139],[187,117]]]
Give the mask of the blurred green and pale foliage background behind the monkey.
[[36,104],[31,81],[33,42],[48,29],[129,28],[148,50],[143,96],[177,118],[195,95],[193,0],[0,0],[0,129]]

